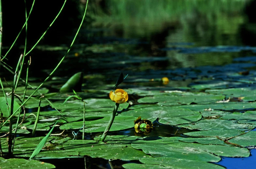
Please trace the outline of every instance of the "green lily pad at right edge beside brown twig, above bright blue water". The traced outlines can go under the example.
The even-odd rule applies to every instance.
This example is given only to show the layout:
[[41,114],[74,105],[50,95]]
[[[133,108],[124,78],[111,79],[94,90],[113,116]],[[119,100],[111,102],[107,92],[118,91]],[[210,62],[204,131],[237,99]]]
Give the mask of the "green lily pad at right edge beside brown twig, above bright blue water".
[[234,137],[229,142],[238,144],[240,146],[256,146],[256,131],[249,131],[248,133]]

